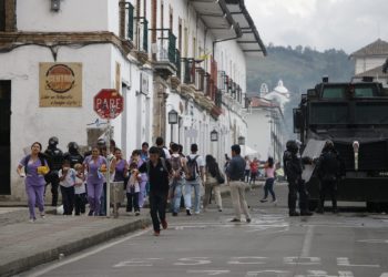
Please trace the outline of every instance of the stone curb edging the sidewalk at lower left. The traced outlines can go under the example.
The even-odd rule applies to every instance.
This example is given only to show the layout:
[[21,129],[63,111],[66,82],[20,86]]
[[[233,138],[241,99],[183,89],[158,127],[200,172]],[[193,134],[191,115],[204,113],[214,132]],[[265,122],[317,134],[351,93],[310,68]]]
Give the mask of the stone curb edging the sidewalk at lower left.
[[0,276],[8,277],[8,276],[13,276],[16,274],[20,274],[22,271],[30,270],[35,266],[58,259],[60,254],[64,254],[64,256],[69,256],[71,254],[84,250],[91,246],[105,243],[112,238],[145,228],[150,225],[151,225],[150,218],[137,219],[135,222],[127,223],[127,224],[118,226],[115,228],[101,232],[91,237],[81,238],[79,240],[64,244],[60,247],[48,249],[48,250],[31,255],[29,257],[23,257],[21,259],[10,261],[4,265],[0,265]]

